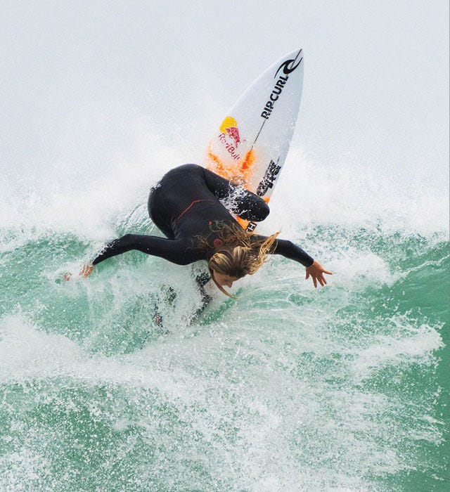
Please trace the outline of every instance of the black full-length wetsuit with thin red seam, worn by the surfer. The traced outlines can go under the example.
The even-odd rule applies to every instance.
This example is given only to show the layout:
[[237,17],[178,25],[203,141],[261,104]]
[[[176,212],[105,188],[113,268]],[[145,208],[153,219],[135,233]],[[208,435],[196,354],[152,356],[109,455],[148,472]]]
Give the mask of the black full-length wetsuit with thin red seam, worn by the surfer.
[[[219,200],[225,200],[228,209]],[[110,242],[93,263],[96,265],[129,250],[139,250],[179,265],[208,260],[214,253],[214,240],[219,239],[214,232],[215,224],[237,224],[229,210],[255,222],[269,215],[269,206],[254,193],[196,164],[176,167],[152,188],[148,198],[150,218],[167,238],[124,235]],[[206,239],[210,247],[200,247],[199,238]],[[274,254],[282,254],[304,266],[314,261],[293,242],[277,239],[274,244]]]

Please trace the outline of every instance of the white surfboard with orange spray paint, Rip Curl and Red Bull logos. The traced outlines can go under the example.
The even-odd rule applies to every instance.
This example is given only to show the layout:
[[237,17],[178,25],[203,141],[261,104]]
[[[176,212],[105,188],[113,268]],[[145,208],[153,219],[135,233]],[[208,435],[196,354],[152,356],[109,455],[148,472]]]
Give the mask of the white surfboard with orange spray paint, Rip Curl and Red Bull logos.
[[[269,202],[300,109],[303,52],[283,56],[236,101],[207,145],[205,167]],[[256,223],[237,218],[247,231]]]

